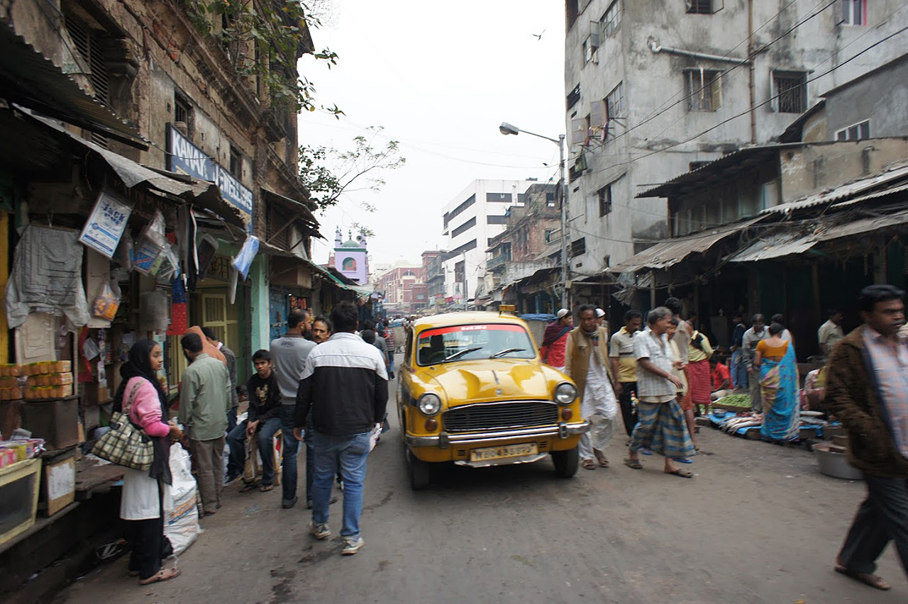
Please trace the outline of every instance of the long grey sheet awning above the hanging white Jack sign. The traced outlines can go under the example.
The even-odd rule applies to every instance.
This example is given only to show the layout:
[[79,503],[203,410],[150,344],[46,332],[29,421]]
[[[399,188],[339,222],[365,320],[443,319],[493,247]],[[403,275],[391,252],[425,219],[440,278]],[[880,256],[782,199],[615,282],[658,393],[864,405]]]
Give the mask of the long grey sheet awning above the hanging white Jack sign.
[[135,186],[142,185],[150,192],[163,197],[174,197],[191,202],[199,208],[212,211],[225,222],[245,229],[240,210],[222,200],[221,193],[213,182],[168,172],[167,170],[147,168],[141,163],[114,153],[114,151],[104,149],[104,147],[100,147],[92,141],[86,141],[73,132],[69,132],[61,124],[54,122],[54,120],[35,115],[35,113],[24,107],[16,106],[15,109],[34,119],[35,122],[39,122],[47,128],[58,132],[59,135],[68,137],[70,141],[80,145],[85,150],[92,151],[100,156],[114,170],[116,176],[123,181],[123,185],[127,188],[132,189]]

